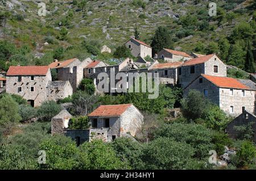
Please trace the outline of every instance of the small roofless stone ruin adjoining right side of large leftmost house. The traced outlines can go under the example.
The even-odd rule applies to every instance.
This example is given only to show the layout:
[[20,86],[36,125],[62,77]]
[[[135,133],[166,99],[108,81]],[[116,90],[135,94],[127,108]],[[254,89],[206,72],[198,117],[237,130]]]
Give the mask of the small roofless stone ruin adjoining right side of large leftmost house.
[[60,100],[73,94],[69,81],[51,81],[47,85],[47,100]]

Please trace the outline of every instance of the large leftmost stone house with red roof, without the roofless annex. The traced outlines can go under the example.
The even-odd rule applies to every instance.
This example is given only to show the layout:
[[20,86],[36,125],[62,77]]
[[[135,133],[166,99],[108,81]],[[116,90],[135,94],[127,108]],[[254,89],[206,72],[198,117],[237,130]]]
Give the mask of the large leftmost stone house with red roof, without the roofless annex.
[[6,74],[6,92],[26,99],[32,107],[47,100],[47,85],[52,81],[48,66],[10,66]]

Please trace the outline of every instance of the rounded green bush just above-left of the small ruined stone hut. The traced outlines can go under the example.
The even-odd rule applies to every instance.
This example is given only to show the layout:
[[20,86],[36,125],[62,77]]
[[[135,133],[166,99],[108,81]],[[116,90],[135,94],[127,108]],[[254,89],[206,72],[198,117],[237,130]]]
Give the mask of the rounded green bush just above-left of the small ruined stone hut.
[[62,108],[59,104],[53,100],[49,100],[43,102],[42,105],[38,108],[37,116],[42,121],[51,121],[52,117],[57,115],[61,109]]

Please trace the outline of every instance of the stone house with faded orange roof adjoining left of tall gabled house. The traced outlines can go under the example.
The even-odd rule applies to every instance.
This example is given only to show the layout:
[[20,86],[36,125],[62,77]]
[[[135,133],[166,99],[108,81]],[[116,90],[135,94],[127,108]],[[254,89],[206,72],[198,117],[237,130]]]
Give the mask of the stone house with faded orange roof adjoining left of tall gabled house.
[[182,64],[183,62],[171,62],[164,64],[156,62],[148,68],[148,72],[158,73],[160,83],[175,86],[177,84],[177,68]]

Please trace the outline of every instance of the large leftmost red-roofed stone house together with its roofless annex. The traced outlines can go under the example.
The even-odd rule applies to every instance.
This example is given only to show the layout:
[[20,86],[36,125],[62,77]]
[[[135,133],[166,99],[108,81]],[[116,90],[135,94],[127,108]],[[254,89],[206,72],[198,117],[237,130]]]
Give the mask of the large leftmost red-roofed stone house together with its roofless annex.
[[49,66],[10,66],[6,74],[6,92],[26,99],[32,107],[45,100],[59,100],[72,95],[69,82],[52,81]]

